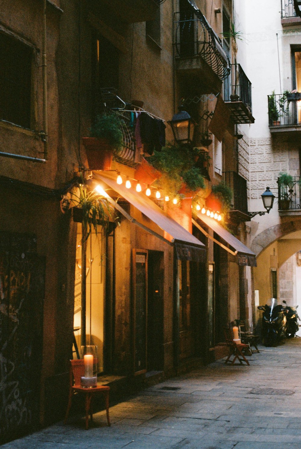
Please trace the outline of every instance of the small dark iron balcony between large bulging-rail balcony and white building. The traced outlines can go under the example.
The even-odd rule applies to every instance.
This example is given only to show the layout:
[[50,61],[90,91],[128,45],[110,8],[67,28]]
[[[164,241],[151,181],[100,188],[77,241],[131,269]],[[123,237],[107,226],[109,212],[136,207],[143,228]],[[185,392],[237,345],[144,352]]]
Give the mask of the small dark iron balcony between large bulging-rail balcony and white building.
[[231,64],[231,72],[224,82],[224,97],[234,123],[254,123],[252,84],[240,64]]

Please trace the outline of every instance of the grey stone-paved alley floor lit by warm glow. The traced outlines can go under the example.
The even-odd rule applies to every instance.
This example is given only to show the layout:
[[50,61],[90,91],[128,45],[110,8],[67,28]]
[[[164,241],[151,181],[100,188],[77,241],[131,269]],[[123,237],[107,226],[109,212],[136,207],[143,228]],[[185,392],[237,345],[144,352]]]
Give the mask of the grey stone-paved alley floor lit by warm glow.
[[[1,449],[301,449],[301,339],[261,347],[250,366],[212,363],[94,415]],[[173,389],[164,389],[172,387]]]

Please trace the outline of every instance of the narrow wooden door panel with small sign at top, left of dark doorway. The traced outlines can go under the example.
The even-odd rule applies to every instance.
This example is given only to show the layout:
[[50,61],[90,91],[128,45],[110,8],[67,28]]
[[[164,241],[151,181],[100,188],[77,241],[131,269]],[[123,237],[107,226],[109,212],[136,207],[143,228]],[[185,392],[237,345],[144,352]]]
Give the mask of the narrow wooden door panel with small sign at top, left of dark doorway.
[[148,251],[133,249],[134,373],[147,370]]

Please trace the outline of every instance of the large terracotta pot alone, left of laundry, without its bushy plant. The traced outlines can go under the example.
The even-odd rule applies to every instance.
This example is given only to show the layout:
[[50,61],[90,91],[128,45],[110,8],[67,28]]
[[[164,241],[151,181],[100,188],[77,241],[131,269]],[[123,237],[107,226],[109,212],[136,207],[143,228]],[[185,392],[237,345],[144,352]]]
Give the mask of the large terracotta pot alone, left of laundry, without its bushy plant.
[[106,139],[83,137],[90,170],[111,170],[113,146]]

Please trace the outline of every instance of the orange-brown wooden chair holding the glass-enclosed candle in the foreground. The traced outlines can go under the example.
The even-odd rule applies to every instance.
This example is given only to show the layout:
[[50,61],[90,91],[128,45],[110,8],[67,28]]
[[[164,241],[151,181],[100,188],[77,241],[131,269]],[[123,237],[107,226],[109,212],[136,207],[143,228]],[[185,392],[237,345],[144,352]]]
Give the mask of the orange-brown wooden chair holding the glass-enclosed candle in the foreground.
[[[97,385],[97,387],[92,388],[84,388],[80,384],[81,377],[84,376],[85,373],[85,367],[83,359],[79,360],[70,360],[70,386],[69,386],[69,399],[68,399],[68,406],[67,411],[65,415],[65,421],[66,424],[72,398],[75,393],[84,393],[85,394],[85,411],[86,411],[86,430],[89,427],[89,414],[91,417],[91,421],[93,419],[92,414],[92,397],[96,393],[103,394],[105,398],[105,408],[107,410],[107,420],[108,420],[108,426],[110,426],[110,418],[109,418],[109,391],[110,387],[107,387],[105,385]],[[73,378],[74,378],[74,385],[73,385]]]

